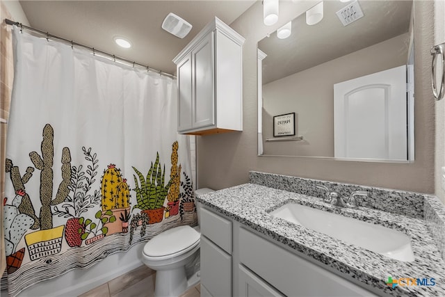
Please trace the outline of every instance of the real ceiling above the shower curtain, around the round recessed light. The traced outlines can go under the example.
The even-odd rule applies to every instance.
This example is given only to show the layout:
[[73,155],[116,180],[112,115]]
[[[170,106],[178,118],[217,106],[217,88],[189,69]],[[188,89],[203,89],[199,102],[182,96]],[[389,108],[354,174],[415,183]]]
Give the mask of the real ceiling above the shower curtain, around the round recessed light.
[[[19,2],[35,29],[173,74],[176,66],[172,59],[213,17],[231,24],[255,1]],[[192,24],[184,39],[161,29],[170,12]],[[127,38],[133,47],[118,47],[113,41],[115,36]]]

